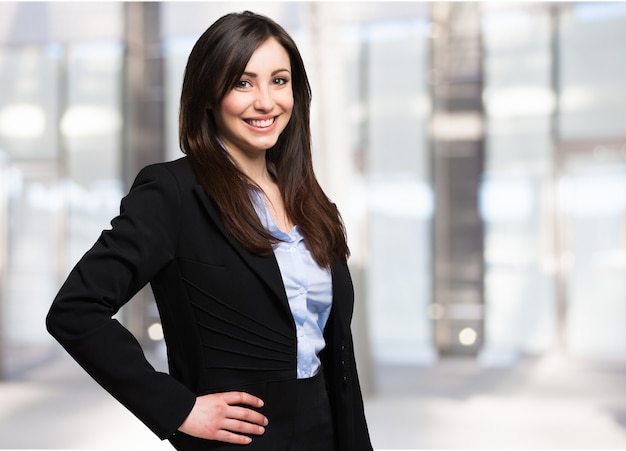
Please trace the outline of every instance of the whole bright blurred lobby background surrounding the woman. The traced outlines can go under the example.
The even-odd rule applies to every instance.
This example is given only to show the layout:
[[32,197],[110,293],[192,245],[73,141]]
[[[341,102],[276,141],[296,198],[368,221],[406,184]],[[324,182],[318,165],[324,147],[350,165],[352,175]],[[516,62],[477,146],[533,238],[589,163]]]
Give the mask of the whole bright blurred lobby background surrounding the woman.
[[626,448],[626,3],[389,1],[0,2],[0,447],[171,449],[44,317],[245,9],[309,72],[374,446]]

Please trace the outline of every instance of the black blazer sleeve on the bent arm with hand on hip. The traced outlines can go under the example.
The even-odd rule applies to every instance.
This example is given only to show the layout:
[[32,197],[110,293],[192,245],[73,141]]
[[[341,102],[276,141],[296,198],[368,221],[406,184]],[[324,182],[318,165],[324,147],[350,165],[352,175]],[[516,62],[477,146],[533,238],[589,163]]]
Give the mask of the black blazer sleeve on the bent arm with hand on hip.
[[71,271],[46,318],[48,331],[68,353],[161,439],[176,432],[196,395],[157,372],[113,316],[172,259],[180,208],[169,170],[144,168],[111,229]]

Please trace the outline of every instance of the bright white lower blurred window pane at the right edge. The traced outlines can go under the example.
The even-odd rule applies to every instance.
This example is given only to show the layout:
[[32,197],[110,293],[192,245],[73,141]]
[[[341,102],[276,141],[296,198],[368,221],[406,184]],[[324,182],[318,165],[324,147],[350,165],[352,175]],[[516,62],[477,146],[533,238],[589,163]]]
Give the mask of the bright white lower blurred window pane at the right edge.
[[626,141],[568,156],[560,183],[565,340],[572,355],[619,359],[626,343]]

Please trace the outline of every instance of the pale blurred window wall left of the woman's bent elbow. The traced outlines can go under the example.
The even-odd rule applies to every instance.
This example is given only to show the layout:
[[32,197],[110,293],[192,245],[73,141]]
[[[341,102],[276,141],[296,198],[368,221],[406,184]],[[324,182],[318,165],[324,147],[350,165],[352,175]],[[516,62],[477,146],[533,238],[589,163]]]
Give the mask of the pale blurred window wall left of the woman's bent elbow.
[[122,196],[122,5],[0,3],[0,292],[4,339],[44,317]]

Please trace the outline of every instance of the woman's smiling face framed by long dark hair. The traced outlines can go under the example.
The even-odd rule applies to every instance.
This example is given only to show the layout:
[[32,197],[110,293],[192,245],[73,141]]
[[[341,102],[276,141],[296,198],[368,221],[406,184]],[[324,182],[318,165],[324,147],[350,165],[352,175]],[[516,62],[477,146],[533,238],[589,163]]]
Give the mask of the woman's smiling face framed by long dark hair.
[[215,112],[218,135],[236,161],[258,158],[276,144],[292,110],[289,55],[270,38],[254,51]]

